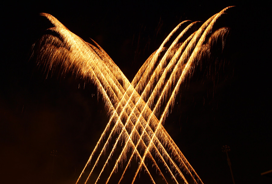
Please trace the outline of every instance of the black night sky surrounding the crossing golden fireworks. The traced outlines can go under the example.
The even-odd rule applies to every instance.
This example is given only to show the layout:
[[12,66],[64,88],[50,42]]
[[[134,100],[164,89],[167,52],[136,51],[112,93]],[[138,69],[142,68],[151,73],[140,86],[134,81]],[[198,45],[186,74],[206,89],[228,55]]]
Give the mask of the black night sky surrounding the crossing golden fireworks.
[[[207,184],[272,183],[271,15],[267,4],[235,2],[40,2],[1,5],[0,183],[75,183],[108,123],[93,84],[46,73],[31,46],[52,25],[95,40],[132,81],[138,69],[184,20],[206,21],[228,6],[224,68],[196,70],[181,87],[165,128]],[[213,71],[216,70],[214,66]],[[54,160],[50,152],[57,150]]]

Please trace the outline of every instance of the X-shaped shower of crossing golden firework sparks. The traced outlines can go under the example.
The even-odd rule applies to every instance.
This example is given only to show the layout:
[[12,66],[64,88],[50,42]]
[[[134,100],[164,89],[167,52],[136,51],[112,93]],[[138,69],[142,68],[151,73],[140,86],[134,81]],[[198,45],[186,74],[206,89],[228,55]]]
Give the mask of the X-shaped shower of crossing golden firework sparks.
[[94,40],[85,42],[42,13],[54,27],[34,44],[38,65],[94,83],[110,116],[76,183],[134,183],[145,175],[152,183],[203,184],[163,125],[196,65],[216,43],[224,48],[229,28],[215,25],[228,8],[204,23],[178,24],[132,82]]

